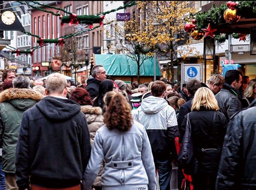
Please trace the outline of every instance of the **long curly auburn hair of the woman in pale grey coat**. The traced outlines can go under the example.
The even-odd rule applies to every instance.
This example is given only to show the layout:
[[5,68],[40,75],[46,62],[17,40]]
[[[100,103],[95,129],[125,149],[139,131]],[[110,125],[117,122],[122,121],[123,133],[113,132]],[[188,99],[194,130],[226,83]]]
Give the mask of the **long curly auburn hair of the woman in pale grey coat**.
[[104,123],[112,130],[119,131],[130,130],[133,118],[131,116],[131,106],[125,97],[115,91],[107,92],[104,97],[106,112],[104,114]]

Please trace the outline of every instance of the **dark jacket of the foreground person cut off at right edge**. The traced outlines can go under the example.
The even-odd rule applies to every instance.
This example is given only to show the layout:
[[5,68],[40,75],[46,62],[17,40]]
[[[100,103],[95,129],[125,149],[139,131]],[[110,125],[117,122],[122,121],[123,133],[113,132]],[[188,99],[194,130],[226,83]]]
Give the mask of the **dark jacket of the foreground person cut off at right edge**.
[[256,189],[256,100],[233,115],[221,155],[218,190]]

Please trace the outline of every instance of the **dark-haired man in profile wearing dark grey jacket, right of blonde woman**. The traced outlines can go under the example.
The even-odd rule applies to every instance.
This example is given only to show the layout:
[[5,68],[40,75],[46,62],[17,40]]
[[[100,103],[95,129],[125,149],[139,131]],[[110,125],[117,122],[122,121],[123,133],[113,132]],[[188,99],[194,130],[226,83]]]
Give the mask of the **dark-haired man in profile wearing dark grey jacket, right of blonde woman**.
[[238,96],[241,84],[242,73],[238,70],[229,70],[225,74],[225,83],[222,85],[222,89],[215,95],[220,112],[224,113],[227,121],[230,121],[231,116],[242,109]]

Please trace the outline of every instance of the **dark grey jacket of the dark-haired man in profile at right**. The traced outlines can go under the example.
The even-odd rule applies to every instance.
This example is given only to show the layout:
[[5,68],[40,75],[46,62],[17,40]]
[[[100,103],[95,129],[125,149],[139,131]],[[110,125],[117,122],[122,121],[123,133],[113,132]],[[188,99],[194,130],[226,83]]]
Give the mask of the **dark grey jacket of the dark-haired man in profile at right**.
[[242,109],[242,104],[238,98],[238,91],[227,83],[223,84],[223,88],[215,95],[220,111],[224,113],[227,121],[236,112]]

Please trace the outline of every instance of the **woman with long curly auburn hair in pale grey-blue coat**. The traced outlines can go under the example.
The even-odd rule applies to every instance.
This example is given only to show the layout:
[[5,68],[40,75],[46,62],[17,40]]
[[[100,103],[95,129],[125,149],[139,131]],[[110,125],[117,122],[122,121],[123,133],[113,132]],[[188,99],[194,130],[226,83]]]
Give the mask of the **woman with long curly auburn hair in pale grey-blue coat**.
[[90,190],[102,158],[102,190],[156,190],[155,167],[148,135],[134,121],[131,106],[115,91],[104,97],[104,123],[96,132],[90,161],[83,176],[83,190]]

